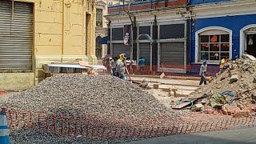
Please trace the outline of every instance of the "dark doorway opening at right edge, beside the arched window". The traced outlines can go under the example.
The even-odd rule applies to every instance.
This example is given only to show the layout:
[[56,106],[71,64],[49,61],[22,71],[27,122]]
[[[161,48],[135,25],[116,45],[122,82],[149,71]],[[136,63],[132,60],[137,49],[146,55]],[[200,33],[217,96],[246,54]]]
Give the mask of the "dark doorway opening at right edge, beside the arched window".
[[256,34],[246,34],[246,53],[256,57]]

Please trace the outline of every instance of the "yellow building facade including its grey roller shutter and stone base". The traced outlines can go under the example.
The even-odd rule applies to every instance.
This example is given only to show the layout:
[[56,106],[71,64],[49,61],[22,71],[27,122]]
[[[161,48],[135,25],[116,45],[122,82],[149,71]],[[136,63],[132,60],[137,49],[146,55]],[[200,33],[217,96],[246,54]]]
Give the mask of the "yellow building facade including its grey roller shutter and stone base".
[[0,90],[37,85],[43,64],[97,63],[95,12],[94,0],[1,0]]

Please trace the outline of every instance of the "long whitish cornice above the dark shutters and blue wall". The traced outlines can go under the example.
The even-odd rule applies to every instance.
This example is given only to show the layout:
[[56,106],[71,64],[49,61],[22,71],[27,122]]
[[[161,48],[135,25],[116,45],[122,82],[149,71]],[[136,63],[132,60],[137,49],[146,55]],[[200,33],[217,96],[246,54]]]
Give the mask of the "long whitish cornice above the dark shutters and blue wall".
[[[190,14],[190,12],[192,12]],[[154,15],[157,18],[166,18],[168,20],[186,19],[186,18],[215,18],[244,14],[256,14],[256,0],[242,0],[231,2],[209,3],[197,6],[173,7],[163,10],[145,10],[142,12],[131,13],[137,21],[152,21]],[[106,15],[106,18],[117,22],[130,22],[128,14]],[[117,21],[117,22],[115,22]]]

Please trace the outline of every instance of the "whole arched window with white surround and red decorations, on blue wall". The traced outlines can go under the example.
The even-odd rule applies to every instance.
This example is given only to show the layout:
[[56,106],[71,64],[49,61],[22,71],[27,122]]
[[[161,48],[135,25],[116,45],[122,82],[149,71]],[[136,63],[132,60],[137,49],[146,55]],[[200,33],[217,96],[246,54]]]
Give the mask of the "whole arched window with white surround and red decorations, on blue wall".
[[232,32],[222,27],[208,27],[196,33],[196,62],[203,59],[218,62],[230,58],[232,52]]

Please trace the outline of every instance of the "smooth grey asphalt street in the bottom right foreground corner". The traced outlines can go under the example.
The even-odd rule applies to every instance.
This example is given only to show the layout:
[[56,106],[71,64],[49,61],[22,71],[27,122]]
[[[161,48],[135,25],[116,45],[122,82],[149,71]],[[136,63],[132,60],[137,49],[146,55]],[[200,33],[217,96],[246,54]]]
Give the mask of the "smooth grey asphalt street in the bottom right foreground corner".
[[179,134],[168,137],[150,138],[127,144],[255,144],[256,128],[209,131],[199,134]]

